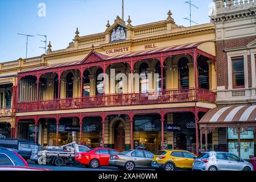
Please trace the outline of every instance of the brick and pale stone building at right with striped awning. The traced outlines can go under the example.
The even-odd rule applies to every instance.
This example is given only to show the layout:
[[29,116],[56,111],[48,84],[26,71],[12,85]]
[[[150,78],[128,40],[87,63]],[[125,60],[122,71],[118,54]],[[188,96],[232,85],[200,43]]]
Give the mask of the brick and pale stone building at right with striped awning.
[[249,159],[255,154],[256,139],[256,3],[214,2],[218,107],[204,116],[200,128],[205,137],[218,130],[215,138],[210,137],[219,141],[220,151]]

